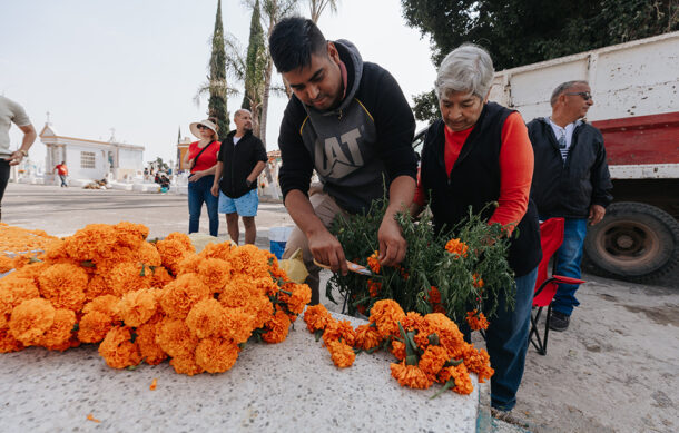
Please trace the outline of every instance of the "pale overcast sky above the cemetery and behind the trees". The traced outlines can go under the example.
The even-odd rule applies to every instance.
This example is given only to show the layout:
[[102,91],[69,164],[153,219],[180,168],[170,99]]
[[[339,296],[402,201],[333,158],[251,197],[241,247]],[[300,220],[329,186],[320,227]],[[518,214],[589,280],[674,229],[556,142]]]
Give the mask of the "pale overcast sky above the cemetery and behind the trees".
[[[307,2],[299,3],[299,14],[308,16]],[[145,146],[145,163],[174,160],[178,129],[190,137],[188,125],[206,117],[207,97],[199,105],[194,97],[206,81],[216,9],[217,0],[8,1],[0,14],[0,95],[22,105],[38,132],[49,111],[58,135],[104,141],[114,135]],[[225,32],[246,48],[244,2],[223,0],[222,16]],[[386,68],[411,105],[413,95],[433,87],[429,38],[405,26],[398,0],[338,0],[337,12],[324,11],[318,27]],[[243,90],[233,78],[228,83]],[[232,114],[242,100],[228,99]],[[274,97],[269,105],[267,150],[278,148],[286,102]],[[12,149],[21,137],[12,126]],[[30,158],[45,160],[39,138]]]

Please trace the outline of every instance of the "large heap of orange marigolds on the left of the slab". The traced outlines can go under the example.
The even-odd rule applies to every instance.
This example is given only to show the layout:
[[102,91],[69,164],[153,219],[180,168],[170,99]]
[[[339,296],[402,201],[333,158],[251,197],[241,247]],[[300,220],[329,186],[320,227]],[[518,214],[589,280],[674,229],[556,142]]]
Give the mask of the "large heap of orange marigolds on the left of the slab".
[[131,223],[92,224],[0,278],[0,352],[99,343],[114,368],[169,358],[177,373],[219,373],[255,336],[283,342],[311,301],[276,257],[187,235],[146,242]]

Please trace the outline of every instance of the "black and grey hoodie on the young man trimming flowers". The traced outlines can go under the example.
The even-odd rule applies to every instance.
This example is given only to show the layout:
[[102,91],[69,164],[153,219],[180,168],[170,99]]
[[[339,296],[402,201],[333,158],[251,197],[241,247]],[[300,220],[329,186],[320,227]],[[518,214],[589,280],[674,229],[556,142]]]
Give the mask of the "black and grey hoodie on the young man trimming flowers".
[[285,200],[293,189],[307,194],[316,169],[324,190],[343,209],[361,213],[382,198],[383,178],[387,186],[398,176],[416,178],[415,119],[388,71],[363,62],[346,40],[335,46],[347,70],[345,98],[329,111],[291,98],[278,136],[278,179]]

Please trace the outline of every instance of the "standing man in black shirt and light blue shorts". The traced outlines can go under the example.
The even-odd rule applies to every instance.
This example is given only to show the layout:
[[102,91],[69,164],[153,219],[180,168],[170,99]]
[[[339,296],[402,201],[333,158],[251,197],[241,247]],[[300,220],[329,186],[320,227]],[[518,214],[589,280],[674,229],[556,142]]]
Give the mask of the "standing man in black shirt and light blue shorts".
[[226,226],[232,240],[238,244],[240,216],[245,226],[245,243],[255,244],[255,216],[259,205],[257,176],[266,165],[266,149],[262,140],[253,135],[249,110],[237,110],[234,121],[236,130],[226,136],[219,148],[211,193],[219,197],[219,213],[226,214]]

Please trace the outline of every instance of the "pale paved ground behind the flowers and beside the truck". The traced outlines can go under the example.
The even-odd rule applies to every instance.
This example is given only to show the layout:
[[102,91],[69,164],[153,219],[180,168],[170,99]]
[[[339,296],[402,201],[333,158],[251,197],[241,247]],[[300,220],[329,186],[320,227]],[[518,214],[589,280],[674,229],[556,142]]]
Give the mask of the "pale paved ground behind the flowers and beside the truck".
[[[10,184],[2,205],[4,223],[59,236],[90,223],[142,223],[151,237],[188,226],[186,196],[171,194]],[[269,227],[291,224],[282,205],[260,204],[257,245],[268,246]],[[513,414],[535,432],[679,431],[679,283],[584,279],[569,331],[550,334],[547,356],[529,350]]]

